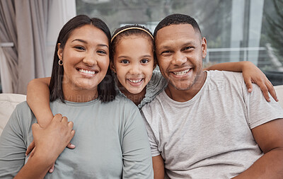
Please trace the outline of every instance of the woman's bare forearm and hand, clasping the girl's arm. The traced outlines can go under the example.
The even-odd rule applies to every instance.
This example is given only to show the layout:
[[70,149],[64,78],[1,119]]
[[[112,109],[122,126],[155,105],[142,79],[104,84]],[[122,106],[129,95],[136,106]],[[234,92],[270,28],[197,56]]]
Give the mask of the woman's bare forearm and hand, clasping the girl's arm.
[[55,115],[47,127],[33,124],[35,154],[18,172],[15,178],[44,178],[59,154],[74,137],[73,122],[67,117]]

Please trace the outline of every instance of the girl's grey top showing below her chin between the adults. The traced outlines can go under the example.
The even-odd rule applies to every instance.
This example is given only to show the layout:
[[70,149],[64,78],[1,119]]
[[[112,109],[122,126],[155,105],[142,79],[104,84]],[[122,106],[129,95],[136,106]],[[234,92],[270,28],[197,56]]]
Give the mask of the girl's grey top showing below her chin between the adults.
[[[114,76],[115,81],[117,80],[117,76],[115,76],[115,74],[112,74]],[[149,83],[147,83],[146,85],[146,95],[144,97],[144,99],[141,100],[141,103],[139,103],[139,105],[137,105],[137,108],[139,108],[139,110],[146,104],[146,103],[150,103],[151,100],[154,100],[154,98],[161,93],[161,91],[163,91],[163,89],[167,86],[167,81],[166,79],[163,78],[163,76],[161,75],[161,72],[159,70],[154,70],[151,80],[149,81]],[[118,94],[120,96],[124,96],[125,98],[127,98],[127,96],[125,96],[117,87],[117,83],[115,83],[115,88],[116,91],[118,92]]]

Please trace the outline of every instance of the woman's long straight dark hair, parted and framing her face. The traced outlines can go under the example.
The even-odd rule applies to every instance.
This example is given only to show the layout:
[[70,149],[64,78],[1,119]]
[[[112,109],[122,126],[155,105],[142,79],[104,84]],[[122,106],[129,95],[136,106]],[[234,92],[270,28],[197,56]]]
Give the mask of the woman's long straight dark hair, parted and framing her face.
[[[57,52],[59,50],[58,43],[60,43],[60,48],[64,50],[64,46],[66,45],[69,36],[73,32],[73,30],[80,28],[83,25],[93,25],[96,28],[105,33],[108,37],[108,43],[110,45],[110,30],[108,26],[101,21],[99,18],[89,18],[86,15],[78,15],[74,18],[71,18],[61,29],[54,52],[54,60],[53,60],[53,67],[52,67],[52,75],[50,80],[50,101],[56,100],[59,98],[64,103],[64,94],[62,88],[62,81],[64,76],[64,67],[58,64],[59,57]],[[98,84],[98,99],[103,102],[108,102],[115,99],[116,91],[114,86],[114,80],[112,79],[111,70],[108,67],[107,74],[103,81]]]

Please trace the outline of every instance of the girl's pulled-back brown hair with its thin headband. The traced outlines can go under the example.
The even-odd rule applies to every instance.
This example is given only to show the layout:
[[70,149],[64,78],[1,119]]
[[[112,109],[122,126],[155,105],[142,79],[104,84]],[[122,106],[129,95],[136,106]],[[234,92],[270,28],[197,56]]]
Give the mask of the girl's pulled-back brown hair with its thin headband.
[[[141,30],[141,29],[143,30]],[[126,30],[128,29],[128,30]],[[125,31],[123,31],[125,30]],[[144,31],[145,30],[145,31]],[[115,30],[115,32],[113,33],[112,35],[112,42],[111,42],[111,45],[110,45],[110,61],[113,62],[114,60],[114,54],[115,54],[115,49],[117,47],[117,43],[122,39],[122,37],[127,37],[127,36],[130,36],[130,35],[144,35],[145,37],[149,37],[149,39],[151,40],[151,47],[152,47],[152,50],[154,52],[154,37],[151,33],[151,31],[147,28],[145,28],[144,26],[141,26],[141,25],[125,25],[125,26],[122,26],[120,28],[117,28]],[[155,53],[154,53],[154,60],[156,61],[156,57],[155,57]]]

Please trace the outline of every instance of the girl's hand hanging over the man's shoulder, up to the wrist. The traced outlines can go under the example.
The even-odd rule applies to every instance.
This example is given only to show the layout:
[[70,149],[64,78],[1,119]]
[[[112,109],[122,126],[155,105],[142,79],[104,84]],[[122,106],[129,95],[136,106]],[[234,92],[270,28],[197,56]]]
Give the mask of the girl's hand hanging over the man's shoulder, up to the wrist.
[[260,86],[263,96],[265,96],[265,99],[268,102],[270,102],[270,96],[268,95],[268,92],[270,93],[272,98],[278,101],[275,88],[273,88],[272,83],[267,79],[265,74],[263,74],[262,71],[258,69],[258,67],[256,67],[252,62],[246,62],[243,65],[242,73],[243,80],[245,81],[248,88],[248,92],[251,93],[253,91],[252,83],[256,83],[258,86]]

